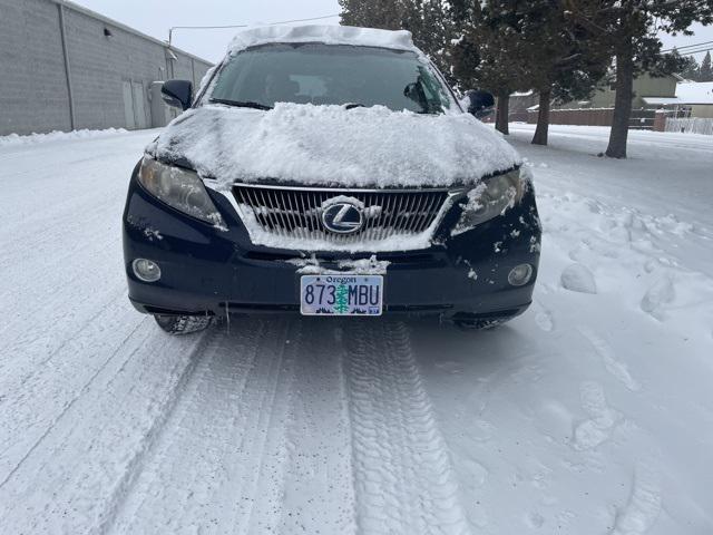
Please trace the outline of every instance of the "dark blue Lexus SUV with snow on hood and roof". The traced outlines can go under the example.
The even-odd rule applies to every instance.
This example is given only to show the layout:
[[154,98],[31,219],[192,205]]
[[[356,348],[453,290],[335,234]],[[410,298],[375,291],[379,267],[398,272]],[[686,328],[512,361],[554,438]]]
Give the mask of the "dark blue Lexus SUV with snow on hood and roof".
[[408,32],[248,30],[195,96],[163,93],[185,113],[134,169],[124,255],[164,330],[268,312],[482,328],[530,304],[529,172]]

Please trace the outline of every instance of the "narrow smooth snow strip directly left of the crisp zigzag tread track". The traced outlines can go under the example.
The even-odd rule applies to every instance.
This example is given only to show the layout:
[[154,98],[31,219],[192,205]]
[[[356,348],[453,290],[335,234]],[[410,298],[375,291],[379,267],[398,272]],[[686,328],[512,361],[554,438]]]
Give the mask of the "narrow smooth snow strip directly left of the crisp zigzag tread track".
[[[356,533],[351,426],[340,320],[303,320],[287,427],[279,533]],[[335,324],[338,327],[335,327]]]

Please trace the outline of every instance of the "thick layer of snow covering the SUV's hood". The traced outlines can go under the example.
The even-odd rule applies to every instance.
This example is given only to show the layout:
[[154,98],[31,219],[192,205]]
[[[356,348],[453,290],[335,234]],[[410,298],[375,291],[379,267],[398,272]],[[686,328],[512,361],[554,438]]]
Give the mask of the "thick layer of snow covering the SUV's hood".
[[202,176],[233,182],[390,187],[472,184],[520,164],[469,114],[418,115],[279,103],[262,111],[208,105],[175,119],[147,147]]

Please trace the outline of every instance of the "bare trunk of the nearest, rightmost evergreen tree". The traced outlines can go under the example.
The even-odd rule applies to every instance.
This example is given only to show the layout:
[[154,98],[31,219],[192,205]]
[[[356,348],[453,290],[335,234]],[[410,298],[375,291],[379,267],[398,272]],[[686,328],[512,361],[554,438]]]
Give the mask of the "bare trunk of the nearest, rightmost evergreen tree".
[[606,155],[611,158],[626,157],[628,124],[632,116],[634,98],[634,50],[632,39],[626,38],[616,50],[616,97],[614,99],[614,118],[609,133],[609,146]]

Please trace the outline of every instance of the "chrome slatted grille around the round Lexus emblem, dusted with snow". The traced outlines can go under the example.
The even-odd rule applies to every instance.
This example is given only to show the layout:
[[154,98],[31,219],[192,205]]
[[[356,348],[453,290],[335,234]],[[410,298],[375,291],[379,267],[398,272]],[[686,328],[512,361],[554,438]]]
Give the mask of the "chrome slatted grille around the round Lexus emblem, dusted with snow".
[[[335,244],[412,236],[438,218],[448,189],[341,189],[236,184],[233,195],[243,218],[271,235],[325,240]],[[322,206],[334,197],[363,204],[364,221],[353,234],[335,234],[322,223]],[[248,225],[250,226],[250,225]]]

